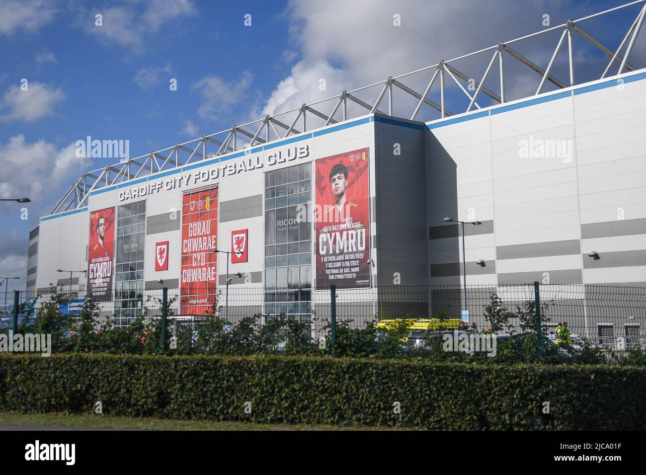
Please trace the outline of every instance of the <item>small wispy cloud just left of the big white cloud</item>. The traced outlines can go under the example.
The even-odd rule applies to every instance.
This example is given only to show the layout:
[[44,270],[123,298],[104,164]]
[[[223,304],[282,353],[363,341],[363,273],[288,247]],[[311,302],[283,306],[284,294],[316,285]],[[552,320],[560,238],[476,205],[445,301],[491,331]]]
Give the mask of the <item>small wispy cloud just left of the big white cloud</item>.
[[252,78],[251,72],[244,71],[239,79],[229,83],[218,76],[205,76],[191,84],[191,90],[197,91],[202,99],[198,116],[216,120],[220,113],[242,100]]

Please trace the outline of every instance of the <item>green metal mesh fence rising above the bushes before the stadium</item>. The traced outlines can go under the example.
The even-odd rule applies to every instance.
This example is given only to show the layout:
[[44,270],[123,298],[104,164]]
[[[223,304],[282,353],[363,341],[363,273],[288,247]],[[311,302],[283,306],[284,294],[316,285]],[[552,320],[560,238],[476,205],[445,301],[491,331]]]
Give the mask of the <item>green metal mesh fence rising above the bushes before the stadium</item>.
[[[112,320],[116,326],[128,326],[137,317],[145,321],[162,314],[163,290],[143,288],[112,292],[110,301],[97,302],[98,320]],[[335,315],[339,324],[364,328],[370,322],[397,318],[464,319],[479,330],[491,327],[488,312],[492,311],[494,295],[498,308],[508,313],[508,332],[521,331],[523,311],[533,311],[534,284],[505,284],[498,286],[380,286],[367,289],[335,290],[332,307],[331,290],[266,289],[253,284],[218,287],[211,302],[198,311],[187,311],[186,297],[178,289],[167,290],[168,315],[176,326],[199,324],[208,314],[218,315],[232,324],[244,317],[256,315],[258,324],[286,315],[308,323],[312,337],[318,338],[329,331]],[[573,338],[621,349],[622,346],[646,346],[646,287],[606,284],[540,284],[539,295],[543,328],[553,332],[560,322],[568,322]],[[78,313],[88,296],[78,291],[57,289],[39,293],[16,292],[9,294],[0,326],[11,328],[14,320],[14,299],[17,323],[34,318],[47,302],[59,313]],[[54,300],[52,300],[54,299]],[[212,303],[209,305],[208,303]],[[172,329],[172,326],[169,327]],[[553,336],[553,335],[552,335]]]

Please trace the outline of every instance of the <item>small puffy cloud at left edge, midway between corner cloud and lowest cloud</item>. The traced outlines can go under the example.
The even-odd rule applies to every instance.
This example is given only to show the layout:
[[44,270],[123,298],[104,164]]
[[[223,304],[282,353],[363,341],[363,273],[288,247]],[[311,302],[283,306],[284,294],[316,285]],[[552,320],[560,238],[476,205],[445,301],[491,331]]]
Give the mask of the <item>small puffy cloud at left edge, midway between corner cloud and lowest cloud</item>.
[[61,89],[30,81],[27,90],[18,85],[10,86],[0,102],[0,120],[34,121],[54,113],[56,103],[65,99]]

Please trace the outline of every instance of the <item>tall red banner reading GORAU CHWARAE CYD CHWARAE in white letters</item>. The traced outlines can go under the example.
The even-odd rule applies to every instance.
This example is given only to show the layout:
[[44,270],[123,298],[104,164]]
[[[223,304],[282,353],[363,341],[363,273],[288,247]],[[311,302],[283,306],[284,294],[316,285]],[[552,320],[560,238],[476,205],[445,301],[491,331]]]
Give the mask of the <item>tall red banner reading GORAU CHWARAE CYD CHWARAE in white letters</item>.
[[187,191],[182,200],[180,315],[206,315],[218,292],[218,187]]

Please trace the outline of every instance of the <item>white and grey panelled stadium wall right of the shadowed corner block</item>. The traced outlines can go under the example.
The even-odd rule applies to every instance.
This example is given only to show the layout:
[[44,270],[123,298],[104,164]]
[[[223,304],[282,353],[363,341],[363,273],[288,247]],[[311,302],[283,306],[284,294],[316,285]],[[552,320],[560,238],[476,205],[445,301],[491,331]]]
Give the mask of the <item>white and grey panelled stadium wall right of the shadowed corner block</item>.
[[431,284],[646,285],[646,73],[427,129]]

